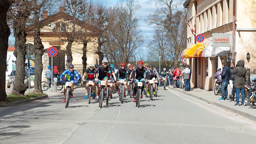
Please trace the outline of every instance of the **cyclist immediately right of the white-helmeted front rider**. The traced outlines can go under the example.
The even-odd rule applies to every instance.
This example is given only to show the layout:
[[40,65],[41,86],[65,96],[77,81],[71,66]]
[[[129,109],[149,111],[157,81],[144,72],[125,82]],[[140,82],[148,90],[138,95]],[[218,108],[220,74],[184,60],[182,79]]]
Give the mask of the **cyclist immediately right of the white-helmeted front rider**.
[[[120,64],[120,67],[117,69],[117,72],[116,72],[116,75],[118,76],[118,82],[117,82],[117,93],[119,94],[120,92],[120,80],[126,80],[126,72],[127,72],[127,69],[125,68],[125,63],[121,63]],[[125,94],[125,91],[126,91],[126,88],[127,88],[127,84],[124,85],[124,97],[126,97],[126,94]]]

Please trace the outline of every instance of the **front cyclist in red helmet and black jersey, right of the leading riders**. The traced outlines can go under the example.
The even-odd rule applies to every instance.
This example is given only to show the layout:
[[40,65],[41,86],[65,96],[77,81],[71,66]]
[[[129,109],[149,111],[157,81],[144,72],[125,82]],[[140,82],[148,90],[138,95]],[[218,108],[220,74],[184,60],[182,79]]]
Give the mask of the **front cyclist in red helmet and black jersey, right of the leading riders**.
[[[130,75],[130,79],[134,80],[135,82],[145,82],[145,77],[149,80],[149,76],[148,76],[148,70],[147,68],[145,68],[143,66],[143,61],[142,60],[139,60],[138,61],[138,66],[136,66],[133,70],[132,70],[132,73]],[[136,75],[134,76],[134,74],[136,73]],[[144,75],[144,73],[146,75]],[[135,88],[134,88],[134,91],[133,91],[133,94],[132,96],[134,97],[136,92],[137,92],[137,87],[138,87],[138,84],[135,84]],[[141,88],[141,97],[142,98],[142,92],[144,90],[144,85],[142,86]],[[134,97],[133,99],[133,102],[136,102],[136,98]]]

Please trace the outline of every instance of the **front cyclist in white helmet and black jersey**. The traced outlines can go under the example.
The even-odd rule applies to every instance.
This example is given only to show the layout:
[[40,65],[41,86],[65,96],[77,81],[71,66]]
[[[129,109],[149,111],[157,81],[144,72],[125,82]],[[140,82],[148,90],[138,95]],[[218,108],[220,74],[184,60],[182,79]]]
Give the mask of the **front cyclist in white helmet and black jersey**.
[[[108,60],[102,60],[102,65],[100,65],[98,68],[95,69],[94,71],[94,76],[95,76],[95,82],[98,80],[104,80],[111,82],[111,76],[114,76],[114,79],[116,82],[116,75],[114,71],[111,71],[111,67],[108,65]],[[112,86],[113,84],[110,84],[110,91],[112,92]],[[105,85],[105,90],[107,89],[108,84]],[[99,100],[99,92],[100,92],[100,83],[98,84],[98,90],[96,92],[96,99],[97,101]]]

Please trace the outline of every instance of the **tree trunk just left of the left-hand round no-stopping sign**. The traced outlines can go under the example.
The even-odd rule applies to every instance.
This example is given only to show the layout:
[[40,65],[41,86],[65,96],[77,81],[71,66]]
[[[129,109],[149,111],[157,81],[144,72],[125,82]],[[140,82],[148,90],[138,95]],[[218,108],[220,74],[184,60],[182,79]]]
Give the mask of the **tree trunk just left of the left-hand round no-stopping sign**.
[[42,56],[44,55],[44,45],[40,38],[40,27],[34,30],[34,48],[35,48],[35,80],[34,80],[34,91],[36,93],[43,93],[42,91],[42,72],[43,63]]

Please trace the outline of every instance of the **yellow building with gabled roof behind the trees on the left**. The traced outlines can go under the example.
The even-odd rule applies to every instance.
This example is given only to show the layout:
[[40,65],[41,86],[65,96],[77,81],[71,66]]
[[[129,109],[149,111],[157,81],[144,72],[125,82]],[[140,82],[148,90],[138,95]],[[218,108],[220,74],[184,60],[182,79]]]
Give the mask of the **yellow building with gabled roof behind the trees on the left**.
[[[53,66],[57,66],[59,69],[59,72],[63,72],[66,67],[66,60],[67,56],[65,55],[65,49],[68,44],[67,38],[65,37],[65,33],[70,30],[70,20],[72,20],[72,17],[64,12],[64,7],[60,7],[60,12],[56,13],[55,15],[48,16],[48,12],[44,11],[44,19],[41,20],[41,23],[44,24],[44,27],[41,28],[40,32],[40,38],[42,40],[42,44],[44,45],[44,56],[43,56],[43,64],[44,64],[44,71],[42,73],[42,78],[44,78],[44,73],[47,69],[48,65],[51,65],[51,57],[47,54],[47,49],[50,47],[57,48],[57,56],[53,57]],[[97,50],[97,29],[86,25],[86,28],[84,28],[85,24],[81,22],[80,20],[77,20],[76,24],[76,30],[77,31],[84,31],[86,29],[86,33],[88,35],[87,38],[90,38],[90,42],[87,44],[87,64],[96,64],[99,60],[98,54],[96,54]],[[33,44],[34,38],[33,38],[33,30],[34,27],[28,27],[27,28],[27,43]],[[72,43],[72,57],[73,61],[72,64],[75,65],[75,69],[78,72],[82,71],[83,64],[82,64],[82,56],[83,56],[83,44],[80,39],[76,38],[74,42]],[[53,67],[52,66],[52,67]],[[88,65],[87,65],[88,66]]]

